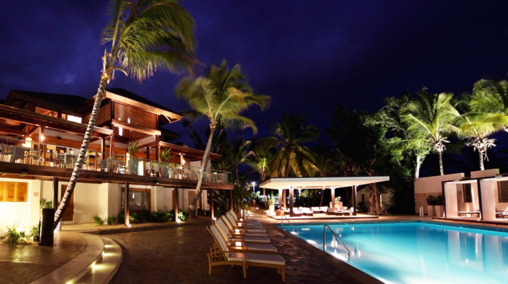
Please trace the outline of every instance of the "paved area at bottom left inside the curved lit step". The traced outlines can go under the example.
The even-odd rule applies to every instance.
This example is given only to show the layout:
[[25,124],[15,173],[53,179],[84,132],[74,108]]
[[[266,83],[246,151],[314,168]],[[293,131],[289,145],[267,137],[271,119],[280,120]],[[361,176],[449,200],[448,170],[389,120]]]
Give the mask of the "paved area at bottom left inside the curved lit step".
[[86,247],[77,233],[58,232],[54,246],[0,243],[0,283],[30,283],[69,262]]

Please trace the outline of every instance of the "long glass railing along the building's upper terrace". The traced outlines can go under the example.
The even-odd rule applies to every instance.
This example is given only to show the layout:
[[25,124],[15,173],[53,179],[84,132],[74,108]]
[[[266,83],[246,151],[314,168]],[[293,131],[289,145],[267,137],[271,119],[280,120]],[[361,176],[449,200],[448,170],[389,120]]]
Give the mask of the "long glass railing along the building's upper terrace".
[[[73,168],[78,158],[79,149],[0,136],[0,152],[0,161],[3,162]],[[87,151],[83,169],[188,181],[197,181],[201,171],[199,167],[186,164],[162,163],[96,151]],[[203,181],[228,183],[228,173],[220,170],[207,170]]]

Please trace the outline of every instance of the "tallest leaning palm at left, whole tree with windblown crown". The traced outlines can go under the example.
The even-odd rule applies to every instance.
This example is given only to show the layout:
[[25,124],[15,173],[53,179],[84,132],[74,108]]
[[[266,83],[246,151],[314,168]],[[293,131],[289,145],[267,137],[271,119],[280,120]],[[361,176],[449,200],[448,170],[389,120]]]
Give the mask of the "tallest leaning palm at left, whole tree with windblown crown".
[[111,46],[102,57],[99,88],[69,185],[55,212],[55,228],[74,192],[106,86],[114,79],[115,70],[141,82],[157,69],[178,73],[194,62],[194,19],[178,1],[113,0],[110,14],[101,42]]

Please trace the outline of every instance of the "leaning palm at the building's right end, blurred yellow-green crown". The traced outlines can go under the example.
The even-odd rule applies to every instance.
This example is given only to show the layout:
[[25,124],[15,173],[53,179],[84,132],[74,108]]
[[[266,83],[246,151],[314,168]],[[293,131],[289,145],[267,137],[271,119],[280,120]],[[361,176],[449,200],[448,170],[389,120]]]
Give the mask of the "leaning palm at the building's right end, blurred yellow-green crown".
[[251,128],[257,132],[255,123],[240,115],[251,105],[259,105],[264,110],[270,97],[254,94],[252,88],[242,75],[240,65],[236,64],[232,69],[227,66],[226,60],[220,66],[210,66],[205,76],[193,79],[186,77],[180,80],[176,87],[176,94],[184,98],[193,109],[182,112],[185,116],[201,115],[210,121],[210,134],[206,144],[201,170],[196,187],[196,197],[193,200],[194,214],[197,214],[197,204],[201,198],[201,184],[208,164],[208,156],[212,145],[213,133],[217,126],[225,128]]

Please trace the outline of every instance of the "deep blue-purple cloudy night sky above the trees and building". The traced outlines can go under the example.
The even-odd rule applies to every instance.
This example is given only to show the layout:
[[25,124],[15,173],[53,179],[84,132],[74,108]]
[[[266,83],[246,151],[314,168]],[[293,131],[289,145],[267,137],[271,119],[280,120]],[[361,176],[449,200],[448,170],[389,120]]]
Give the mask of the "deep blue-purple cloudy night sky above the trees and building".
[[[50,3],[47,3],[50,2]],[[186,1],[197,24],[204,64],[240,63],[269,110],[247,116],[260,129],[284,113],[327,127],[336,104],[375,111],[404,90],[470,91],[508,72],[506,1]],[[91,97],[100,79],[107,22],[104,1],[4,1],[0,19],[0,98],[10,89]],[[168,108],[179,76],[158,73],[143,84],[117,75],[124,88]],[[201,124],[205,127],[205,124]],[[192,145],[180,126],[173,130]],[[245,138],[251,132],[236,133]],[[323,139],[326,136],[322,135]]]

